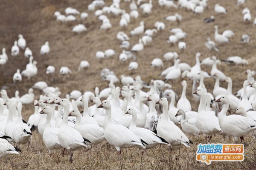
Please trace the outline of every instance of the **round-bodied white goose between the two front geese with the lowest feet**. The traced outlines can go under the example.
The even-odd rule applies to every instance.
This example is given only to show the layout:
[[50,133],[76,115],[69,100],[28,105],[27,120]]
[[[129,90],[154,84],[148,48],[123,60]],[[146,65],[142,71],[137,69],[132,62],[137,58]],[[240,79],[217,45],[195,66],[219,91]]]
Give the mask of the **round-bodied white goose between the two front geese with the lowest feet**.
[[74,128],[79,131],[85,139],[90,141],[90,143],[87,144],[89,148],[91,148],[93,144],[99,144],[105,140],[102,127],[93,124],[81,124],[81,114],[78,109],[71,111],[69,116],[76,116],[76,124]]

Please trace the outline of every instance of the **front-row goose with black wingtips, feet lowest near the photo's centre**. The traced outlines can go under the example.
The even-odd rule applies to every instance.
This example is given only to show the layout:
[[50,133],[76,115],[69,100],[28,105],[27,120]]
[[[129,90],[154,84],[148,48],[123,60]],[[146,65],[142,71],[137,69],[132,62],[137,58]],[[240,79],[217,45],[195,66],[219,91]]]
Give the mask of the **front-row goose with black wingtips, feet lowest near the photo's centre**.
[[131,130],[122,125],[113,124],[111,119],[110,102],[104,100],[98,108],[106,109],[106,116],[103,123],[104,135],[109,144],[113,145],[120,159],[122,148],[142,147],[145,149],[142,139],[136,136]]

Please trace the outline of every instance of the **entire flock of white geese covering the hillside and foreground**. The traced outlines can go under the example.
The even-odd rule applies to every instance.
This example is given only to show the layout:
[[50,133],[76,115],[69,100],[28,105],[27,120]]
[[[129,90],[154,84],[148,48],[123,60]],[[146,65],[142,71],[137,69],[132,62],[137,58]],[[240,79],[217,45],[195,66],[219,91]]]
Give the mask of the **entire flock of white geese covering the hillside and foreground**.
[[[8,53],[13,58],[24,55],[24,60],[29,59],[29,62],[25,69],[21,66],[13,68],[16,72],[9,83],[16,85],[15,96],[9,97],[11,93],[7,93],[7,88],[0,91],[0,157],[23,154],[20,145],[29,148],[35,133],[40,134],[49,156],[55,154],[54,150],[63,150],[64,156],[67,150],[70,162],[73,162],[75,150],[92,150],[102,142],[115,147],[120,159],[123,148],[138,147],[142,149],[142,154],[157,145],[168,146],[171,151],[176,149],[175,146],[191,149],[196,144],[192,141],[194,136],[204,136],[205,141],[200,142],[206,143],[212,139],[218,142],[218,135],[234,143],[246,142],[250,137],[256,139],[256,72],[249,67],[252,58],[245,54],[243,57],[237,56],[235,52],[222,57],[225,45],[241,44],[240,48],[243,49],[250,44],[253,34],[245,32],[241,39],[239,37],[239,42],[234,42],[239,35],[230,29],[221,34],[223,26],[215,24],[215,20],[227,19],[229,11],[221,5],[222,2],[219,3],[208,6],[207,0],[158,0],[158,3],[152,0],[113,0],[107,5],[104,0],[93,0],[84,11],[71,7],[62,11],[63,14],[55,11],[52,17],[56,24],[68,27],[70,25],[67,23],[80,22],[71,29],[76,36],[90,34],[90,26],[84,24],[90,18],[102,22],[97,28],[100,34],[108,34],[111,29],[118,27],[115,35],[119,46],[114,49],[104,46],[105,49],[100,47],[102,51],[90,51],[93,54],[90,63],[89,59],[83,59],[76,69],[67,67],[67,63],[60,67],[59,74],[66,75],[66,80],[74,74],[86,73],[84,70],[93,70],[93,79],[101,81],[101,84],[93,85],[95,91],[79,91],[68,83],[65,85],[69,93],[61,91],[54,77],[58,68],[56,63],[48,63],[45,71],[41,62],[36,61],[41,60],[40,57],[52,57],[50,46],[54,46],[55,42],[41,42],[41,48],[38,47],[40,52],[36,52],[36,48],[29,48],[31,44],[26,42],[26,36],[18,34],[11,48],[3,47],[0,65],[12,64]],[[127,6],[126,10],[121,8],[123,6]],[[255,21],[251,22],[253,14],[247,7],[244,8],[246,2],[238,0],[233,8],[236,6],[243,6],[237,9],[243,14],[238,24],[255,27]],[[156,8],[169,11],[171,15],[154,20],[151,16]],[[211,33],[201,39],[204,42],[201,48],[209,50],[212,54],[210,57],[203,59],[204,54],[198,50],[195,54],[190,53],[192,62],[186,62],[183,58],[184,53],[193,48],[191,43],[186,43],[192,38],[189,37],[189,28],[178,28],[186,20],[177,13],[183,8],[189,15],[193,15],[193,12],[198,20],[204,11],[212,10],[210,17],[200,19],[202,25],[212,26]],[[148,17],[154,20],[153,25],[146,20]],[[119,25],[112,22],[113,18],[118,18]],[[136,27],[131,28],[131,23]],[[177,28],[169,29],[169,25],[177,25]],[[147,67],[151,72],[159,73],[158,76],[152,77],[149,72],[139,75],[140,69],[145,67],[141,58],[148,57],[141,53],[150,48],[154,50],[151,44],[160,40],[158,36],[165,32],[169,36],[164,42],[177,51],[169,50],[149,61]],[[108,60],[114,59],[126,67],[126,72],[119,74],[119,65],[108,68]],[[101,70],[90,67],[94,63],[100,65]],[[242,78],[239,91],[232,90],[233,82],[237,81],[231,78],[233,75],[228,73],[229,69],[219,69],[221,67],[245,70],[247,78]],[[34,83],[38,73],[42,75],[42,81]],[[46,75],[52,79],[49,80]],[[145,78],[147,76],[150,78]],[[26,85],[28,93],[19,96],[18,87],[23,85],[25,77],[26,82],[30,83],[29,87]],[[212,88],[209,82],[213,81],[215,85]],[[86,80],[86,83],[90,81]],[[105,88],[102,88],[103,85]],[[192,89],[187,88],[190,85]],[[22,117],[23,105],[34,105],[34,114],[29,115],[27,122]]]

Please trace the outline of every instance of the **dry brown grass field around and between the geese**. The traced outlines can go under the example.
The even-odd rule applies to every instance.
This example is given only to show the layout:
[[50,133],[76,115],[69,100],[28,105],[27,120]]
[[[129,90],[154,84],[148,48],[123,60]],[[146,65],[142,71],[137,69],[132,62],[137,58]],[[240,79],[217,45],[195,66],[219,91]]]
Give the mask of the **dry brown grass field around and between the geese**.
[[[92,0],[5,0],[1,1],[0,5],[0,48],[6,47],[9,61],[6,65],[0,66],[0,86],[6,89],[9,97],[14,96],[15,90],[20,91],[20,96],[27,93],[28,89],[38,81],[46,81],[49,86],[58,86],[62,92],[61,97],[70,93],[72,90],[94,91],[97,86],[102,90],[108,87],[108,82],[100,80],[99,72],[102,68],[109,68],[119,77],[122,74],[135,77],[140,75],[141,78],[150,82],[151,79],[164,79],[158,75],[162,70],[150,68],[150,62],[154,58],[163,59],[163,54],[168,51],[177,51],[182,62],[187,62],[189,65],[195,64],[195,54],[201,52],[202,57],[210,57],[216,55],[218,59],[224,59],[230,56],[241,56],[249,61],[249,65],[218,65],[218,68],[233,80],[233,93],[242,87],[243,81],[247,78],[244,71],[246,69],[255,70],[255,54],[256,54],[256,27],[252,24],[245,24],[241,11],[244,7],[248,7],[251,11],[252,18],[256,17],[256,2],[247,0],[242,6],[235,6],[236,0],[209,0],[208,7],[200,16],[195,16],[191,11],[186,11],[184,8],[160,8],[157,0],[153,0],[152,14],[149,16],[142,15],[135,21],[132,20],[128,27],[122,29],[119,27],[120,17],[108,15],[112,28],[108,31],[101,31],[99,27],[101,22],[97,20],[93,12],[87,11],[88,4]],[[111,0],[105,0],[107,5],[111,4]],[[227,14],[216,14],[214,12],[215,3],[220,3],[224,6]],[[67,7],[73,7],[79,11],[88,12],[89,18],[85,21],[72,23],[58,23],[53,17],[55,11],[64,13]],[[130,11],[129,3],[120,4],[120,8]],[[164,17],[178,12],[182,15],[183,20],[180,25],[164,20]],[[210,15],[215,16],[215,23],[205,24],[203,19]],[[128,71],[128,64],[119,62],[118,56],[122,52],[119,48],[119,41],[116,39],[118,31],[124,31],[126,34],[139,26],[139,22],[145,22],[145,29],[153,28],[156,21],[163,21],[166,24],[164,31],[159,32],[153,37],[153,42],[146,46],[143,51],[137,55],[139,68],[136,74],[131,74]],[[78,23],[83,23],[87,27],[87,32],[83,34],[74,34],[71,30]],[[210,52],[204,45],[207,37],[214,40],[214,25],[219,27],[219,33],[224,30],[233,30],[236,35],[230,39],[230,43],[219,45],[220,52]],[[183,53],[177,48],[177,44],[170,46],[166,39],[171,35],[168,31],[170,28],[182,28],[188,34],[184,40],[186,49]],[[23,77],[23,81],[15,85],[12,81],[12,76],[17,68],[21,71],[25,69],[28,59],[23,56],[23,50],[20,51],[18,57],[11,56],[11,48],[13,42],[17,40],[18,34],[23,34],[26,39],[27,46],[33,51],[35,60],[38,61],[38,74],[36,77],[28,80]],[[242,45],[240,42],[243,34],[250,34],[251,41]],[[140,37],[131,37],[130,43],[134,45]],[[41,45],[45,41],[49,41],[50,52],[47,55],[40,55]],[[117,54],[103,62],[98,62],[95,53],[96,51],[105,51],[112,48],[117,51]],[[90,63],[90,68],[78,72],[78,66],[81,60],[87,60]],[[164,68],[171,66],[173,63],[164,63]],[[53,75],[55,80],[52,81],[45,74],[48,65],[54,65],[56,72]],[[59,69],[61,66],[67,66],[72,70],[70,77],[61,77]],[[211,68],[202,67],[204,71],[210,72]],[[182,79],[179,80],[181,82]],[[209,91],[212,91],[214,86],[213,79],[205,79],[205,85]],[[173,89],[177,94],[181,94],[181,86],[172,84]],[[116,84],[120,86],[120,84]],[[227,87],[226,83],[221,83],[221,86]],[[198,105],[192,98],[192,82],[188,80],[187,97],[192,103],[192,109],[197,110]],[[145,89],[147,91],[147,89]],[[35,96],[38,99],[39,91],[35,90]],[[23,106],[23,118],[27,120],[34,113],[33,105]],[[172,152],[167,150],[167,146],[148,150],[147,155],[142,156],[141,150],[131,148],[123,150],[121,159],[118,159],[116,149],[110,146],[107,142],[93,147],[91,151],[82,152],[77,150],[74,153],[74,162],[71,164],[68,161],[68,155],[61,157],[61,150],[53,150],[52,157],[49,157],[48,151],[42,142],[42,138],[38,132],[34,132],[32,136],[32,144],[27,149],[25,145],[21,146],[22,153],[20,155],[9,156],[7,159],[0,159],[0,169],[255,169],[256,168],[256,143],[252,137],[245,137],[245,159],[243,162],[212,162],[206,165],[195,160],[197,145],[204,142],[204,137],[200,136],[189,138],[194,142],[191,148],[184,146],[175,147]],[[222,136],[214,136],[212,143],[225,143]],[[233,142],[231,139],[227,142]]]

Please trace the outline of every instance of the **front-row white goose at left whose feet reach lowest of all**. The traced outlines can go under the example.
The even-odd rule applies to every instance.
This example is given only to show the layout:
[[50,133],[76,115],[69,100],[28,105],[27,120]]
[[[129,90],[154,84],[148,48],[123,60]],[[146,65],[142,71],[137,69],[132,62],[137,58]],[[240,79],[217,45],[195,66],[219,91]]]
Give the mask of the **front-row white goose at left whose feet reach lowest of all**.
[[70,102],[67,99],[61,99],[56,103],[64,108],[64,116],[61,122],[61,127],[58,131],[58,140],[62,147],[66,148],[70,154],[70,162],[73,162],[73,151],[82,147],[87,147],[89,140],[83,138],[81,134],[74,128],[68,126],[68,112],[70,108]]

